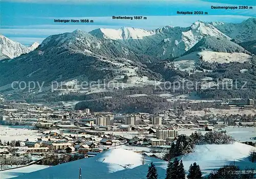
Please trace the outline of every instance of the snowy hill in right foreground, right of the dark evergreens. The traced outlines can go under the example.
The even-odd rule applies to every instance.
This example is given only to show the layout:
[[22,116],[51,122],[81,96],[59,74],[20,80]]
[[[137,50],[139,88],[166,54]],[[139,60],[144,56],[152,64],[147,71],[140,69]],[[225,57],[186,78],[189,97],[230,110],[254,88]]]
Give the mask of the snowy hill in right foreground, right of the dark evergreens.
[[248,160],[248,155],[255,147],[235,142],[228,145],[199,145],[195,152],[183,156],[184,168],[187,170],[191,163],[196,162],[201,167],[203,173],[210,173],[211,170],[223,165],[235,164],[242,169],[245,167],[256,167],[256,163]]

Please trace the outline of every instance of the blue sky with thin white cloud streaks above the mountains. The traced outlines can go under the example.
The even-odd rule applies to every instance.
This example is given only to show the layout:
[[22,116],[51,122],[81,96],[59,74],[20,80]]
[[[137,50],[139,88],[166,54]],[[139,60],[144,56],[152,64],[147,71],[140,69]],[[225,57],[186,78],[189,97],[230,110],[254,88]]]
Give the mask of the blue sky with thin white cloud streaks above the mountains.
[[[251,1],[84,1],[84,0],[2,0],[0,33],[31,44],[52,34],[75,29],[135,27],[157,29],[163,26],[190,26],[196,20],[240,23],[256,16],[256,0]],[[253,9],[224,10],[211,6],[253,6]],[[177,11],[204,11],[208,15],[177,15]],[[146,16],[146,20],[114,20],[112,16]],[[54,19],[91,19],[94,23],[54,23]]]

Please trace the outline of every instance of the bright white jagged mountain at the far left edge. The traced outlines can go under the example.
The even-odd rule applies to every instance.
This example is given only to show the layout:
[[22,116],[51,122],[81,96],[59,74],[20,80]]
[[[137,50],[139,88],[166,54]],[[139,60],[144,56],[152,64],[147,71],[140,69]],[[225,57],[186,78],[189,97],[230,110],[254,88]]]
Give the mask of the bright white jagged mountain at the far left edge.
[[35,50],[39,43],[35,42],[31,47],[26,47],[23,44],[12,41],[9,38],[0,35],[0,60],[6,58],[15,58],[22,54],[29,53]]

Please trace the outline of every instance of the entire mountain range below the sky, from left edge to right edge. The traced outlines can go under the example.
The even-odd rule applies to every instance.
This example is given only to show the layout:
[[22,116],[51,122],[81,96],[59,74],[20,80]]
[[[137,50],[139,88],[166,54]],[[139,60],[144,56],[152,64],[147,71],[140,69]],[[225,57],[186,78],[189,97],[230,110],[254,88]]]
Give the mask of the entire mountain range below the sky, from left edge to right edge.
[[[187,72],[203,72],[203,67],[211,69],[210,64],[198,68],[199,56],[210,63],[249,62],[253,57],[251,54],[255,53],[256,37],[253,39],[255,32],[250,28],[255,24],[255,18],[249,18],[238,25],[198,20],[189,27],[165,26],[151,31],[121,28],[96,29],[87,33],[75,30],[51,35],[39,46],[33,44],[29,48],[1,36],[1,59],[16,58],[2,60],[0,71],[4,75],[0,75],[0,83],[7,85],[17,79],[51,82],[59,75],[65,80],[82,76],[89,80],[122,81],[126,75],[133,86],[179,75],[184,78]],[[243,32],[239,38],[232,35],[237,30],[232,30],[233,26],[243,28],[239,30]],[[223,30],[227,27],[229,35]],[[174,64],[163,64],[165,61],[162,60]],[[163,70],[168,65],[172,69]],[[184,73],[176,74],[175,69]]]

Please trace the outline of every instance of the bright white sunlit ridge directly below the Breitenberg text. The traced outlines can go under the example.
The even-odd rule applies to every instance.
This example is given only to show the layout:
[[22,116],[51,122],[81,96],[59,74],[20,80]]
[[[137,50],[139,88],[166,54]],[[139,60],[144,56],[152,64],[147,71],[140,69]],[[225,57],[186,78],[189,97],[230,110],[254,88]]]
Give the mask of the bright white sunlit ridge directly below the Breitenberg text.
[[142,39],[145,36],[154,35],[153,31],[147,31],[144,29],[136,29],[131,27],[122,27],[120,29],[95,29],[89,32],[99,38],[109,38],[113,40],[126,40],[126,39]]

